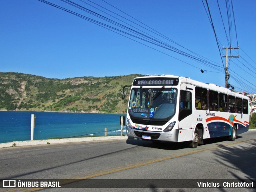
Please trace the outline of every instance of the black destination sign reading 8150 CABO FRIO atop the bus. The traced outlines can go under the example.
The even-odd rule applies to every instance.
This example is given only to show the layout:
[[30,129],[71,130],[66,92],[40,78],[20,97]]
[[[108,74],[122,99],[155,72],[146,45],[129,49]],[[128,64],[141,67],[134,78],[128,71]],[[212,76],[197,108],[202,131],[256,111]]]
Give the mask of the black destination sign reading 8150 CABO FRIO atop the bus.
[[178,78],[138,78],[133,81],[133,86],[174,86],[178,85]]

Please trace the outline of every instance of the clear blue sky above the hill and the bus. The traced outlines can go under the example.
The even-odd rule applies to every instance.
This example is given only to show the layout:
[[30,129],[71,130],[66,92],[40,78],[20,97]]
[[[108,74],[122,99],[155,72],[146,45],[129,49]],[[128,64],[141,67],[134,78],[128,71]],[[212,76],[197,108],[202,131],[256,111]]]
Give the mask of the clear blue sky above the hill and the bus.
[[222,47],[239,46],[231,54],[240,57],[228,62],[229,84],[256,93],[254,0],[42,1],[0,1],[0,72],[173,74],[225,86]]

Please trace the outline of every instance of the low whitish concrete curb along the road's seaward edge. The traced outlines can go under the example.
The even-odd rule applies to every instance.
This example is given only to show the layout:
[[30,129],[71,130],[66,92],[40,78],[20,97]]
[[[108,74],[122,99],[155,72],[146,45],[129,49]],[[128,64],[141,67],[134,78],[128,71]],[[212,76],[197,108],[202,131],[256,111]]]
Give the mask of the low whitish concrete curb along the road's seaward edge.
[[33,140],[33,141],[14,141],[14,142],[8,142],[8,143],[0,143],[0,148],[7,148],[12,146],[46,145],[47,143],[57,144],[57,143],[104,141],[104,140],[116,140],[116,139],[128,139],[128,136],[102,136],[102,137],[46,139],[46,140]]

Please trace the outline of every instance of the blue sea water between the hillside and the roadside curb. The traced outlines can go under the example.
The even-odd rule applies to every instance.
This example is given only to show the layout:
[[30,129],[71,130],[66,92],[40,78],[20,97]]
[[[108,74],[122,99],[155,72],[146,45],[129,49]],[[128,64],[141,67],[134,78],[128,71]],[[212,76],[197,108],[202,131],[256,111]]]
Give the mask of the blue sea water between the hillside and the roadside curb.
[[[59,112],[0,111],[0,143],[30,140],[31,114],[36,116],[34,140],[75,136],[120,135],[120,116]],[[126,134],[124,126],[123,134]]]

